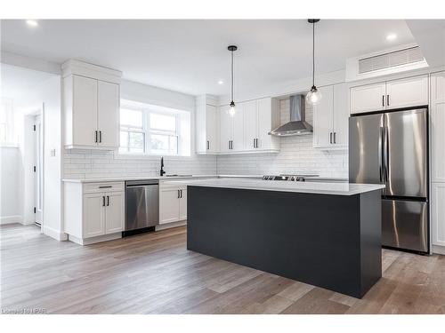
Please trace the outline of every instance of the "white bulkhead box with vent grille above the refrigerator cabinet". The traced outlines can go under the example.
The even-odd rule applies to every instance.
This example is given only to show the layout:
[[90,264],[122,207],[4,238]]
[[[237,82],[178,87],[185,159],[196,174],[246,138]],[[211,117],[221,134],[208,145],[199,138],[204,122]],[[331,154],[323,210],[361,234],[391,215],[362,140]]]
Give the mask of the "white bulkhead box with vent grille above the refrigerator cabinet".
[[416,44],[361,55],[346,59],[346,81],[392,75],[428,67],[424,55]]

